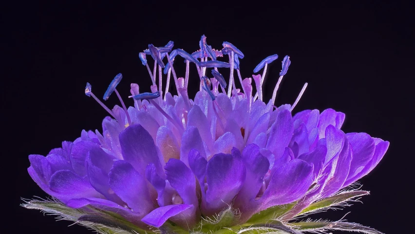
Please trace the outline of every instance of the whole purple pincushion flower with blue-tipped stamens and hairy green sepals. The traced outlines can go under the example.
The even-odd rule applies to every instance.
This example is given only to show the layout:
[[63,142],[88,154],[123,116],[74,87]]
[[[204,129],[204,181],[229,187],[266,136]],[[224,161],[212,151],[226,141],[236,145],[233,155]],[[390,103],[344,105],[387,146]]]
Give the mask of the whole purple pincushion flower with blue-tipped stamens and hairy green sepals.
[[[30,176],[53,199],[23,206],[101,233],[379,233],[341,220],[298,217],[368,194],[350,186],[377,165],[388,141],[366,133],[345,134],[345,115],[333,109],[293,115],[307,83],[293,105],[274,106],[291,63],[288,56],[272,98],[265,102],[267,65],[278,55],[255,68],[263,73],[252,75],[254,94],[252,78],[241,77],[244,54],[233,44],[224,42],[215,50],[202,36],[200,48],[191,54],[173,50],[173,44],[150,44],[139,54],[152,85],[149,92],[140,92],[131,84],[133,106],[127,108],[116,90],[121,74],[103,99],[115,92],[122,107],[106,107],[87,83],[85,94],[110,117],[104,118],[101,133],[84,130],[46,157],[29,156]],[[186,74],[179,78],[173,65],[183,59]],[[197,74],[190,77],[192,63]],[[221,74],[226,69],[228,82]],[[200,80],[193,99],[188,95],[190,78]]]

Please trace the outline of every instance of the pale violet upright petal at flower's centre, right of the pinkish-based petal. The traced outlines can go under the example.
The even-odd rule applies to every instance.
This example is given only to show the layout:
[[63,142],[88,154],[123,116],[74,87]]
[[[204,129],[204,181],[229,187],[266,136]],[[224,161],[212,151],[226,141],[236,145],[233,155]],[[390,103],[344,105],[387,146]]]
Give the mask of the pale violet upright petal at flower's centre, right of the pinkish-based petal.
[[180,160],[186,165],[189,165],[188,156],[191,149],[196,149],[206,159],[202,138],[200,137],[199,130],[194,126],[186,128],[182,137],[182,145],[180,146]]

